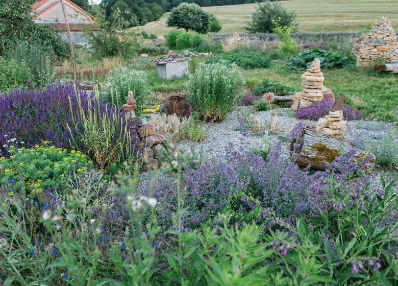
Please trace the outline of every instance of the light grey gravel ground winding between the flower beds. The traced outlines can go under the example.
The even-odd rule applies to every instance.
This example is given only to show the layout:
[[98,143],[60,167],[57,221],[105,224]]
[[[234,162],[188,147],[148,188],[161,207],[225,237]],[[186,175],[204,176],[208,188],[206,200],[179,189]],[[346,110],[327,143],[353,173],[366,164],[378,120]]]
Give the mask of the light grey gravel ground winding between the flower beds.
[[[243,147],[261,149],[263,144],[263,135],[256,135],[250,131],[242,134],[242,132],[238,130],[238,118],[242,116],[242,114],[247,116],[252,112],[252,110],[253,107],[251,106],[239,106],[236,110],[228,114],[225,121],[221,123],[206,124],[206,128],[208,128],[208,136],[206,140],[202,142],[183,140],[179,142],[177,147],[191,150],[195,152],[195,154],[202,154],[203,160],[216,160],[220,156],[224,155],[229,142],[232,142],[235,148]],[[278,115],[277,127],[275,132],[269,134],[269,142],[271,143],[271,146],[273,146],[279,140],[282,140],[284,142],[282,145],[284,152],[288,152],[289,148],[289,140],[286,140],[286,137],[298,122],[303,121],[305,124],[315,124],[314,121],[298,120],[293,116],[294,114],[289,109],[274,109],[274,113]],[[270,111],[254,112],[254,114],[258,116],[261,123],[268,127]],[[355,142],[356,146],[359,146],[360,144],[358,144],[358,141],[363,139],[379,140],[385,136],[391,128],[396,128],[396,126],[383,122],[349,121],[347,122],[346,138],[347,140]],[[372,181],[374,181],[375,184],[380,182],[380,175],[383,175],[386,178],[386,181],[389,181],[392,179],[392,176],[395,176],[396,174],[377,170],[372,173],[372,177],[374,177]],[[153,172],[143,172],[140,178],[140,185],[145,185],[146,181],[150,179],[151,176],[153,176]]]

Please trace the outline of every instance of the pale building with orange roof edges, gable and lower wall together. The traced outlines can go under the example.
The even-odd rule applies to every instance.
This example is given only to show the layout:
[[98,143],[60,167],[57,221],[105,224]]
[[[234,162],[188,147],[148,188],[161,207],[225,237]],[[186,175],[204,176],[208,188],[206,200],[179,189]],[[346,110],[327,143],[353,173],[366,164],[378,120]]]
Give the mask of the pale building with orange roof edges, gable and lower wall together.
[[[68,15],[72,41],[74,43],[86,43],[87,40],[83,36],[83,30],[92,29],[94,17],[69,0],[64,0],[64,4]],[[32,13],[35,15],[35,23],[38,25],[49,24],[53,26],[54,30],[65,31],[61,37],[65,41],[68,40],[60,0],[37,1],[32,6]]]

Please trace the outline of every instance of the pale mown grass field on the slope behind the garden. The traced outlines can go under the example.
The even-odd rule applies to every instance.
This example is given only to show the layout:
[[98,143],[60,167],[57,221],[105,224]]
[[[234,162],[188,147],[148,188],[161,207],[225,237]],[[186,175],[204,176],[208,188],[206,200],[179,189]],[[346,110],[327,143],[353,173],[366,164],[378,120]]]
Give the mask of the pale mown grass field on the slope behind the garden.
[[[321,27],[325,28],[325,33],[360,32],[381,16],[386,16],[398,29],[398,0],[287,0],[281,3],[296,12],[300,32],[319,33]],[[245,32],[244,27],[251,20],[255,7],[256,4],[243,4],[203,9],[221,20],[220,33],[240,33]],[[158,21],[138,29],[148,34],[165,35],[172,30],[166,27],[167,16],[165,13]]]

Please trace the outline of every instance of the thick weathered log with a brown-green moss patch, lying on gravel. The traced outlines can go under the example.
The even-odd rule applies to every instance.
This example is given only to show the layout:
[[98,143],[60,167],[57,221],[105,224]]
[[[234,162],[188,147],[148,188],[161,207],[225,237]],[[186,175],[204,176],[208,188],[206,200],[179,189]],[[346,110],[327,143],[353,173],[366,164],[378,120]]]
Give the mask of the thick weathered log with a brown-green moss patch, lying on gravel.
[[[294,147],[296,146],[296,147]],[[340,156],[343,152],[356,148],[351,142],[337,139],[333,136],[315,131],[315,126],[306,125],[301,137],[290,144],[292,161],[299,166],[311,166],[311,169],[326,170],[326,164]],[[362,160],[366,156],[365,151],[358,150],[354,160]],[[370,161],[367,166],[368,171],[375,167],[375,155],[369,154]]]

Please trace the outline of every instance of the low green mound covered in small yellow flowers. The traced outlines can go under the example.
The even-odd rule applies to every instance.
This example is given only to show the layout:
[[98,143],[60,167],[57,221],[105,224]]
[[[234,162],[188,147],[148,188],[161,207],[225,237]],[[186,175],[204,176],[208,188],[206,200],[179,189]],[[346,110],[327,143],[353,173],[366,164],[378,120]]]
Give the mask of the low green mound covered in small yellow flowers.
[[[10,148],[10,153],[14,148]],[[13,180],[19,189],[19,171],[22,170],[25,186],[38,194],[47,186],[65,186],[69,172],[81,172],[89,165],[86,155],[80,151],[67,152],[66,149],[47,146],[46,141],[34,149],[19,149],[14,153],[9,159],[0,158],[4,170],[4,173],[0,172],[0,184]]]

